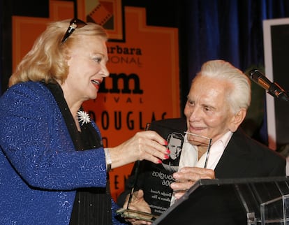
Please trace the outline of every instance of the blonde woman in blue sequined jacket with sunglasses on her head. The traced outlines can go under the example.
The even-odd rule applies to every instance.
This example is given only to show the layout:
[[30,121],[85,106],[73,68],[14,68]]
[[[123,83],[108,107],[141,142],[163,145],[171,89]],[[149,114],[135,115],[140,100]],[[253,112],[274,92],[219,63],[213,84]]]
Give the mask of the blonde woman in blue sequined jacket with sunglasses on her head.
[[11,76],[0,99],[0,224],[120,224],[108,170],[168,159],[154,131],[104,149],[82,110],[109,75],[107,38],[94,23],[53,22]]

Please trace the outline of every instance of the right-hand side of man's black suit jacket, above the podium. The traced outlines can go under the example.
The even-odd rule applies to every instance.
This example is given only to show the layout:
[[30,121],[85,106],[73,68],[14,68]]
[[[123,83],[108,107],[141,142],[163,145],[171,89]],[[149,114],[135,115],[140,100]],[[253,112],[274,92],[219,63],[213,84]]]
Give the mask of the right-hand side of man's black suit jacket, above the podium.
[[215,168],[216,178],[286,175],[286,159],[238,129]]

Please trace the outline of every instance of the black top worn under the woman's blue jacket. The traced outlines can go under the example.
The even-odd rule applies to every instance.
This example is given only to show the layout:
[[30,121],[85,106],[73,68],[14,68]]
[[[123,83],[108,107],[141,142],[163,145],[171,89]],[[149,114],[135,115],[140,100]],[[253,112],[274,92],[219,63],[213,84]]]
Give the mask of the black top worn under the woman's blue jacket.
[[[77,151],[84,151],[93,148],[103,147],[101,138],[91,126],[91,123],[80,125],[81,132],[77,126],[71,111],[69,110],[64,94],[58,84],[45,84],[52,94],[64,117],[68,132],[71,135],[73,144]],[[82,110],[82,108],[80,108]],[[77,189],[70,225],[110,225],[112,224],[111,196],[109,182],[105,188],[91,187]]]

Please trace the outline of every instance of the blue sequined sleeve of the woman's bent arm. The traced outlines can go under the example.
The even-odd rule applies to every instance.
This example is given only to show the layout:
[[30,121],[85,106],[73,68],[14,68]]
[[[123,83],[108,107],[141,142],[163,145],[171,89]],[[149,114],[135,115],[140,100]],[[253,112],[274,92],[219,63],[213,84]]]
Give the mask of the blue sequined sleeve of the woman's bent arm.
[[0,145],[29,185],[57,190],[105,187],[103,148],[75,151],[57,103],[44,85],[24,82],[10,87],[1,96],[0,115]]

